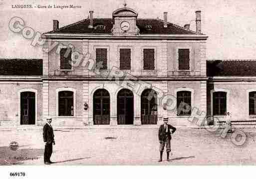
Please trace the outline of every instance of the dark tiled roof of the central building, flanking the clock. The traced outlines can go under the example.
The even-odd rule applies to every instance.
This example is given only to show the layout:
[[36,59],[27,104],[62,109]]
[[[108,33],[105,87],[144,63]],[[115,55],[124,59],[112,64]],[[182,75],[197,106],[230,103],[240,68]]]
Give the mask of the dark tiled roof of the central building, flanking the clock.
[[[66,25],[56,31],[47,33],[106,33],[110,34],[113,27],[112,18],[94,18],[93,27],[88,28],[90,20],[83,19],[81,21]],[[95,28],[97,25],[104,25],[104,29]],[[167,27],[164,27],[164,21],[161,19],[136,19],[136,25],[140,29],[140,34],[197,34],[195,31],[185,29],[184,27],[168,22]],[[146,28],[146,25],[151,25],[152,28]]]

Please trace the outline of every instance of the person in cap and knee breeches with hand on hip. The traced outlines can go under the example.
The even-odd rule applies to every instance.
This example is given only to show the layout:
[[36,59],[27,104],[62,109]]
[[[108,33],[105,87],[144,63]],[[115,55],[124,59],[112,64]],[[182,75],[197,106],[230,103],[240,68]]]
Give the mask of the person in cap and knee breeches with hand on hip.
[[[168,123],[168,117],[164,118],[164,124],[162,124],[158,131],[158,139],[160,143],[160,159],[158,162],[162,162],[163,160],[163,152],[166,145],[166,153],[167,153],[167,161],[169,162],[169,154],[171,151],[171,139],[172,134],[176,131],[176,128],[171,126]],[[172,131],[171,131],[172,130]]]

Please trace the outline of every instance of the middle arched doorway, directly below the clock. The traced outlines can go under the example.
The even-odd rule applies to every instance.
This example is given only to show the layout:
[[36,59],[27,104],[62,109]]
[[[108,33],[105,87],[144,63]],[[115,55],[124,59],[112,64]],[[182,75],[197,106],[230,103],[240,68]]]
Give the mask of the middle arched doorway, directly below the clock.
[[117,94],[117,124],[133,124],[133,93],[122,89]]

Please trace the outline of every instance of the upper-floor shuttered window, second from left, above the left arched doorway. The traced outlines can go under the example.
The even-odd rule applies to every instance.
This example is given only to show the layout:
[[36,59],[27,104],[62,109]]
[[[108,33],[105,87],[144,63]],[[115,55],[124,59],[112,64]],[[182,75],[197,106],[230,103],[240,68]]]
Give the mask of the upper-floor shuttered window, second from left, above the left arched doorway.
[[96,67],[100,70],[107,69],[107,49],[106,48],[96,48],[95,53]]

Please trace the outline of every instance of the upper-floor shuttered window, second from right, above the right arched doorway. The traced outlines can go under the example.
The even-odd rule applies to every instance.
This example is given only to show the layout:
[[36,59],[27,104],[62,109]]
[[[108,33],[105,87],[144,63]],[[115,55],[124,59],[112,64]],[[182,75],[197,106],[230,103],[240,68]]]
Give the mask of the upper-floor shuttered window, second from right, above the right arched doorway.
[[155,69],[155,49],[143,49],[143,69]]

